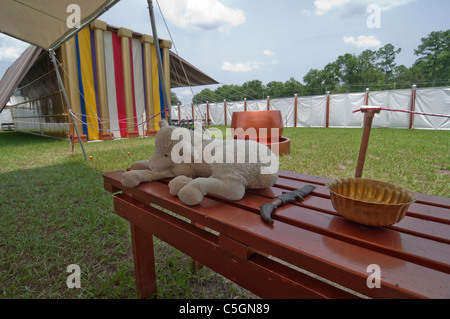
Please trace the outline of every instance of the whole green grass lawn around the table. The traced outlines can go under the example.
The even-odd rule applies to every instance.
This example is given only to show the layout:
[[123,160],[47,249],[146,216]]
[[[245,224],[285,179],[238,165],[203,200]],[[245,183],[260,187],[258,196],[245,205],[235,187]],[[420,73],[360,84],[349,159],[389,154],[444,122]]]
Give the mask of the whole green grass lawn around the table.
[[[224,128],[221,127],[223,130]],[[285,128],[291,153],[280,168],[352,177],[361,129]],[[373,129],[363,177],[450,197],[450,132]],[[113,213],[102,173],[147,159],[154,138],[85,143],[0,133],[0,297],[136,298],[129,225]],[[155,239],[160,298],[249,298],[251,294]],[[81,288],[66,285],[81,268]]]

